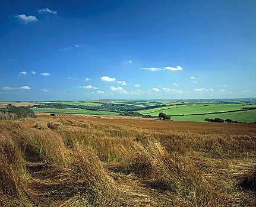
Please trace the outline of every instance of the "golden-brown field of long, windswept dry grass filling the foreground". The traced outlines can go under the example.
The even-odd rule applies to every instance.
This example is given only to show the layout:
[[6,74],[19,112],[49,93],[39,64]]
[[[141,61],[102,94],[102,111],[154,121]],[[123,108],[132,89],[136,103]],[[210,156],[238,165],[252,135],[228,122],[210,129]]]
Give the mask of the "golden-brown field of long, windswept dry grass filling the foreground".
[[0,206],[255,206],[255,141],[255,124],[0,121]]

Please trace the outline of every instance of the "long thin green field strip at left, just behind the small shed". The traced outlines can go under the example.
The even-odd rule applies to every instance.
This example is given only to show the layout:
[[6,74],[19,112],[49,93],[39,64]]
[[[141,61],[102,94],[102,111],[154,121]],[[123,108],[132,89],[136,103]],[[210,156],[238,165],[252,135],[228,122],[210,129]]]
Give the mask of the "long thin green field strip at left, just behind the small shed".
[[86,109],[77,109],[74,111],[75,108],[72,108],[73,110],[60,110],[60,109],[32,109],[34,112],[45,112],[45,113],[56,113],[56,114],[91,114],[91,115],[119,115],[116,112],[112,111],[91,111]]

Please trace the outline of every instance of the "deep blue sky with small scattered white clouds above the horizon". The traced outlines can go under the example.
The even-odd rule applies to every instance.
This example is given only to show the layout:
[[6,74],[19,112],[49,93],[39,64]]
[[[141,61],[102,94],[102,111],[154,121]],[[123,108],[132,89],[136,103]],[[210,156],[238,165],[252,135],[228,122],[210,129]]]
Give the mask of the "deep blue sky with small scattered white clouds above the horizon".
[[0,100],[256,97],[256,1],[1,1]]

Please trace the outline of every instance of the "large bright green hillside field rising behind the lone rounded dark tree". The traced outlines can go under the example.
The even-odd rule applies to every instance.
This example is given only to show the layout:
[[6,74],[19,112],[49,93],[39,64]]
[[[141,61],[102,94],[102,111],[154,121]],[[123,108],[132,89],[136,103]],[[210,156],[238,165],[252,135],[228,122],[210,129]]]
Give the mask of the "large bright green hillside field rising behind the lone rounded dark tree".
[[243,104],[185,104],[185,105],[170,105],[155,109],[138,111],[143,115],[150,114],[158,116],[160,112],[167,115],[187,115],[187,114],[207,114],[213,112],[225,112],[242,110],[244,107],[256,107],[256,104],[245,106]]

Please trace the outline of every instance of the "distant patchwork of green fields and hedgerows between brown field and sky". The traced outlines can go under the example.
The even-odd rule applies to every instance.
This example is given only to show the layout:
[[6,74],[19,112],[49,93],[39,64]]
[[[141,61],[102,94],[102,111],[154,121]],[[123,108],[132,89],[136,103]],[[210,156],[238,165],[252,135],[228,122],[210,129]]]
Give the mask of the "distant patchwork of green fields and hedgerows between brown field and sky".
[[[0,103],[1,104],[1,103]],[[30,105],[36,113],[126,115],[157,118],[159,113],[175,121],[200,121],[205,118],[232,119],[239,122],[256,121],[255,99],[191,99],[191,100],[86,100],[12,102]],[[7,102],[2,102],[5,108]],[[135,112],[135,113],[134,113]]]

